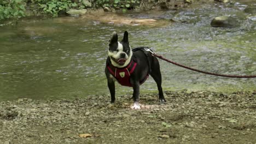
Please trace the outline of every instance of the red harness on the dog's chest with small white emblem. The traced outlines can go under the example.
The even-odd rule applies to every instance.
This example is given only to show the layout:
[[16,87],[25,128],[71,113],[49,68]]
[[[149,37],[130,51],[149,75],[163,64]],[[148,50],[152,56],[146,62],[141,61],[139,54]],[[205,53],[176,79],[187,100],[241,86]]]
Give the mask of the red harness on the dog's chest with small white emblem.
[[[132,87],[130,82],[130,77],[133,71],[135,70],[137,62],[131,59],[131,62],[124,68],[114,67],[111,63],[107,65],[107,68],[115,79],[117,79],[118,83],[122,86]],[[140,81],[139,84],[142,85],[148,79],[148,75],[145,77],[143,81]]]

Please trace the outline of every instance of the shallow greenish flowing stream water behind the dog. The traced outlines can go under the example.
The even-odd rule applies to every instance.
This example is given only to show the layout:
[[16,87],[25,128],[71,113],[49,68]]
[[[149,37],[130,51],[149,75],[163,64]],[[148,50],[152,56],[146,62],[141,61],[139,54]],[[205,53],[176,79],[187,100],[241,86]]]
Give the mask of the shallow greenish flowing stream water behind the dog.
[[[109,95],[104,67],[113,31],[120,39],[129,31],[131,47],[152,47],[156,53],[193,68],[256,75],[256,22],[243,12],[248,4],[254,2],[205,4],[178,13],[161,11],[158,17],[130,14],[159,18],[159,23],[165,23],[159,26],[158,22],[156,26],[121,25],[79,17],[24,19],[15,25],[0,25],[0,100]],[[211,27],[211,20],[220,15],[237,17],[240,26]],[[172,22],[174,16],[184,22]],[[256,90],[256,79],[205,75],[159,61],[164,91]],[[132,94],[132,88],[116,86],[117,95]],[[150,92],[157,92],[152,77],[141,86],[141,93]]]

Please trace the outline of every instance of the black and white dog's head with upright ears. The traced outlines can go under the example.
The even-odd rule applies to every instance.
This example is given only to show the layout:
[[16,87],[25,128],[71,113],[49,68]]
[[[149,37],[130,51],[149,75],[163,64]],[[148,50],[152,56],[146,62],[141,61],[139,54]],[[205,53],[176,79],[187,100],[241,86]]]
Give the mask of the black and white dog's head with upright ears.
[[128,32],[124,32],[124,38],[118,41],[118,35],[113,32],[108,48],[108,56],[111,63],[118,68],[126,67],[131,61],[132,51],[128,41]]

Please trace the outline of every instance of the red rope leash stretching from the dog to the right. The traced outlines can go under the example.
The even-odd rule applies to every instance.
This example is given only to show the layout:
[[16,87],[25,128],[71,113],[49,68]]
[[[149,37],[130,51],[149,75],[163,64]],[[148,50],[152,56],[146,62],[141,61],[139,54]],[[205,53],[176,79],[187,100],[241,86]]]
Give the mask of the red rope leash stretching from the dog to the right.
[[190,69],[190,70],[194,70],[194,71],[197,71],[199,73],[203,73],[203,74],[208,74],[208,75],[216,75],[216,76],[223,76],[223,77],[235,77],[235,78],[255,78],[256,75],[223,75],[223,74],[216,74],[216,73],[211,73],[211,72],[207,72],[207,71],[202,71],[202,70],[198,70],[198,69],[193,69],[193,68],[190,68],[190,67],[187,67],[185,65],[182,65],[182,64],[178,64],[176,62],[172,62],[170,61],[169,59],[166,59],[160,55],[156,55],[156,53],[152,53],[153,56],[155,57],[158,57],[166,62],[169,62],[169,63],[172,63],[172,64],[175,64],[175,65],[178,65],[179,67],[183,67],[185,69]]

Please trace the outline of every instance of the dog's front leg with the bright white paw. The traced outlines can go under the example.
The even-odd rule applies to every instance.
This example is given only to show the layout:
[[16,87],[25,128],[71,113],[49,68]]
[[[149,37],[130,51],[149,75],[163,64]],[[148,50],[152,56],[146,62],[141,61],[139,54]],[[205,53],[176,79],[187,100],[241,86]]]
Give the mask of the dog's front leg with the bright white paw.
[[134,101],[134,104],[131,107],[131,109],[138,110],[138,109],[141,109],[141,106],[139,106],[139,82],[131,80],[131,84],[133,88],[132,98]]

